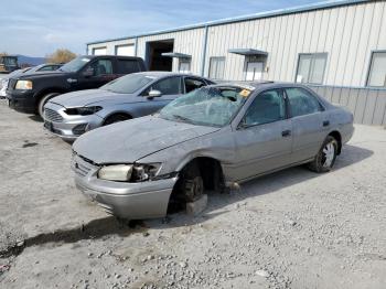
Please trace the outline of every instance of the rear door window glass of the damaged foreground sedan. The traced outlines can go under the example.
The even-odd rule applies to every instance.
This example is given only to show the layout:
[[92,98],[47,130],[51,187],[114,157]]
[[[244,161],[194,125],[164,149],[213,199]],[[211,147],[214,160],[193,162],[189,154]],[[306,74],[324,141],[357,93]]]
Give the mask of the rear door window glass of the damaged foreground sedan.
[[286,88],[286,93],[292,117],[310,115],[322,110],[318,99],[302,88]]

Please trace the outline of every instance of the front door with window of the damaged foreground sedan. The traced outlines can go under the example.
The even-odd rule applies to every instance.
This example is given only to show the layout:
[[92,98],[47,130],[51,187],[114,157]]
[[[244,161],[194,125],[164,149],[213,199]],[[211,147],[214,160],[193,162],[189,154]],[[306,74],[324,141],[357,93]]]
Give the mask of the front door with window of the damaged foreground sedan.
[[258,94],[235,131],[234,179],[247,180],[291,162],[292,122],[282,89]]

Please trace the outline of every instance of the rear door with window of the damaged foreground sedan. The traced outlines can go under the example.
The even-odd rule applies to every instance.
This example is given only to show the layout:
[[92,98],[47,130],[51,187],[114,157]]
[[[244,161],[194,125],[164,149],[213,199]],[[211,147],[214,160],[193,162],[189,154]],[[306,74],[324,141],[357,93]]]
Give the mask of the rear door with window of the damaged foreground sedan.
[[285,88],[292,119],[292,161],[313,158],[321,148],[330,125],[318,98],[301,87]]

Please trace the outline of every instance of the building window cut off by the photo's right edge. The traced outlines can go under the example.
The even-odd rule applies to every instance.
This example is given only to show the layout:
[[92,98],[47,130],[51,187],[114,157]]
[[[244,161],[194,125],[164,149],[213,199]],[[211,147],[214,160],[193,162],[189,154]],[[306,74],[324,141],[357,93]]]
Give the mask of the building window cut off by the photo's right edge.
[[386,51],[373,52],[367,86],[386,87]]

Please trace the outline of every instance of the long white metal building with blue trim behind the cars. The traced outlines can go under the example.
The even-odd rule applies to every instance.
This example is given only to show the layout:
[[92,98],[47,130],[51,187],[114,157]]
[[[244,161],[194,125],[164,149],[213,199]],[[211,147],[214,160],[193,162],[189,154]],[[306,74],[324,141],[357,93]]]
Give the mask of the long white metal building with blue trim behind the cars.
[[149,69],[213,79],[309,84],[386,124],[386,1],[339,0],[87,44],[88,54],[136,55]]

